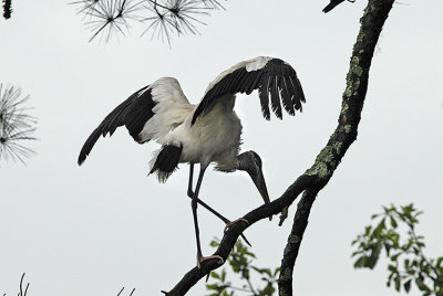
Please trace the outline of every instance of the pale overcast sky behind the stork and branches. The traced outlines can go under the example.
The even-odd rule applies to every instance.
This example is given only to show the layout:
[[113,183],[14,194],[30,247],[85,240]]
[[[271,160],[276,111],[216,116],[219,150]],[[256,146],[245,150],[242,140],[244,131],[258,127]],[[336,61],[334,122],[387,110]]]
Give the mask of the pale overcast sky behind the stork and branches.
[[[0,293],[14,295],[27,272],[30,296],[159,295],[195,264],[185,165],[166,184],[146,175],[155,144],[126,130],[100,139],[84,166],[89,134],[133,91],[176,77],[193,103],[235,63],[257,55],[297,70],[307,104],[296,118],[262,119],[257,93],[239,96],[243,149],[264,160],[271,199],[301,175],[337,125],[341,94],[367,1],[228,1],[202,35],[172,49],[135,25],[128,38],[87,43],[90,33],[65,1],[13,1],[0,20],[0,82],[22,87],[39,118],[38,154],[0,167]],[[277,6],[278,3],[278,6]],[[443,255],[443,2],[396,3],[370,72],[358,140],[313,205],[295,272],[298,295],[398,295],[387,271],[354,271],[351,241],[382,204],[414,202],[425,212],[418,232],[430,256]],[[230,219],[261,203],[241,172],[207,171],[202,199]],[[296,207],[290,214],[293,215]],[[204,254],[223,223],[199,208]],[[278,219],[246,231],[262,266],[278,266],[290,230]],[[320,284],[321,283],[321,284]],[[189,295],[203,295],[204,282]]]

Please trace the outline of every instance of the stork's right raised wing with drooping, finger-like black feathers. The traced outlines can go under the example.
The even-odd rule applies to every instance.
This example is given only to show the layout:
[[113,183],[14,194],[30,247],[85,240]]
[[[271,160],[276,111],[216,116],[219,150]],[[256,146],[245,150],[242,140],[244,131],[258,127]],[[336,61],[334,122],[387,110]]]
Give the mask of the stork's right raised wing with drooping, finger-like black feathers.
[[281,104],[290,114],[302,109],[305,94],[296,71],[280,59],[269,56],[258,56],[256,59],[236,64],[231,68],[223,72],[207,87],[205,95],[194,112],[193,124],[199,116],[204,116],[226,95],[246,93],[249,95],[254,89],[258,89],[261,112],[269,120],[270,112],[281,119]]

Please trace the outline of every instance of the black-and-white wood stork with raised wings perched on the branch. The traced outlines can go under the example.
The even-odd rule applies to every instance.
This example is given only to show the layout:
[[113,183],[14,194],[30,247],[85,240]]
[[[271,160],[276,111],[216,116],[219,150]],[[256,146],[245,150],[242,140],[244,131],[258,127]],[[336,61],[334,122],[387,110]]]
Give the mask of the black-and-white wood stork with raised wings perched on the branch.
[[[135,92],[111,112],[83,145],[78,162],[83,163],[101,135],[112,135],[124,125],[135,141],[156,140],[162,146],[150,162],[150,173],[155,172],[161,182],[166,181],[179,162],[189,163],[187,193],[193,199],[199,266],[200,262],[217,257],[202,255],[196,211],[203,176],[210,162],[219,171],[248,172],[265,203],[269,202],[260,157],[255,151],[239,155],[241,123],[233,109],[236,93],[249,95],[254,89],[259,91],[261,112],[268,120],[269,105],[281,119],[280,102],[290,115],[301,112],[305,103],[296,71],[288,63],[268,56],[240,62],[223,72],[206,88],[198,105],[189,104],[175,78],[163,77]],[[194,191],[195,163],[200,165],[200,170]]]

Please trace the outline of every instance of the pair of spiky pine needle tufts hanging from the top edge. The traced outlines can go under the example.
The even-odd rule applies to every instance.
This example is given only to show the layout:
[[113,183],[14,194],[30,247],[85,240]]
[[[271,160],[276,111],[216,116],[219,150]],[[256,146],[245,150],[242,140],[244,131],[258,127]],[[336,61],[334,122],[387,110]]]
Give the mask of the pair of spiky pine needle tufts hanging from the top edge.
[[[8,0],[3,0],[8,1]],[[91,30],[90,41],[102,36],[106,42],[126,35],[131,22],[147,23],[142,33],[152,33],[171,45],[173,34],[199,34],[197,25],[212,10],[225,9],[218,0],[76,0],[78,13],[83,14]]]

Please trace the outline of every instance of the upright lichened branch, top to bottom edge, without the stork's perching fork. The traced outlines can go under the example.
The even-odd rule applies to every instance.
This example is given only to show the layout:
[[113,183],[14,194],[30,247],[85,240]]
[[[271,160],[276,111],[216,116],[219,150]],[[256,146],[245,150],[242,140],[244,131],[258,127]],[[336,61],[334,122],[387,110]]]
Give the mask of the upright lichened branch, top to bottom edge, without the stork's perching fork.
[[[346,150],[357,138],[357,127],[360,123],[361,110],[368,89],[369,68],[373,52],[393,2],[393,0],[370,0],[360,20],[361,27],[353,46],[347,75],[347,88],[342,97],[339,125],[330,137],[327,147],[317,157],[317,165],[313,165],[307,171],[307,173],[318,172],[319,177],[320,175],[324,176],[326,183],[332,177]],[[278,281],[279,295],[292,295],[293,265],[318,190],[316,189],[305,191],[302,199],[298,203],[292,230],[289,234],[281,261],[280,277]]]

